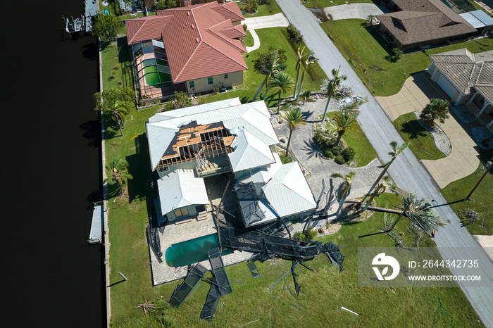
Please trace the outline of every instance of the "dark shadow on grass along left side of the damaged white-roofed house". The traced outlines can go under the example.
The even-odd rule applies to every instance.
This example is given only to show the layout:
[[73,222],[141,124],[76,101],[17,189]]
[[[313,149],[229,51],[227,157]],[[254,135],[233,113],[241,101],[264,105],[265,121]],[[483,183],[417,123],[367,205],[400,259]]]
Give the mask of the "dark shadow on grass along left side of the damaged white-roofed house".
[[125,158],[128,162],[128,172],[133,179],[128,181],[128,202],[136,199],[149,198],[152,195],[149,151],[145,134],[135,137],[136,153]]

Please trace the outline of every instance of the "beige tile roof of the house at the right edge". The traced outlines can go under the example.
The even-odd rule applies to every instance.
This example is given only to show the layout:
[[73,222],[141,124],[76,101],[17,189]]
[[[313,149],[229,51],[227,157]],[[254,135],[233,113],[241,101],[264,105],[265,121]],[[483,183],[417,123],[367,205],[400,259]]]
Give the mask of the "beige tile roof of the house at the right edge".
[[463,94],[474,87],[493,103],[493,51],[470,53],[458,49],[430,55],[435,66]]

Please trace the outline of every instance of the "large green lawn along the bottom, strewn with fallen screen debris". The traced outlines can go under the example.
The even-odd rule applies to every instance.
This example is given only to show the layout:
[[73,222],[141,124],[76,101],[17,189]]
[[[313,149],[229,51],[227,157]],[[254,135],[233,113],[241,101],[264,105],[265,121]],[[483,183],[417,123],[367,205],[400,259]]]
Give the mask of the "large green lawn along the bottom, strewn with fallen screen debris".
[[[377,198],[377,201],[380,206],[399,204],[399,198],[387,194]],[[289,270],[289,261],[257,262],[261,273],[257,279],[251,277],[245,263],[227,267],[233,293],[220,298],[211,325],[240,327],[259,320],[252,327],[270,327],[273,309],[273,327],[304,327],[307,322],[312,327],[408,327],[409,322],[413,322],[415,327],[481,327],[478,315],[459,288],[394,288],[394,294],[387,288],[358,287],[358,247],[392,247],[395,244],[387,234],[358,238],[379,232],[383,227],[380,216],[375,214],[364,222],[349,222],[337,234],[319,239],[342,246],[341,251],[346,256],[344,271],[339,273],[332,265],[327,265],[329,262],[325,256],[307,262],[316,272],[297,268],[301,287],[298,302],[306,310],[297,304],[289,291],[282,290],[285,284],[294,289],[291,275],[287,275],[285,281],[270,291],[268,289]],[[404,243],[411,246],[413,232],[407,226],[408,221],[403,218],[394,232],[404,232]],[[432,241],[425,239],[423,244],[431,246]],[[194,294],[179,310],[175,310],[162,300],[169,299],[176,284],[173,282],[155,289],[141,290],[145,298],[151,298],[158,304],[158,310],[148,317],[141,309],[133,310],[137,303],[142,303],[142,296],[127,295],[127,314],[125,317],[114,316],[113,327],[193,327],[201,324],[198,318],[209,284],[200,282]],[[339,305],[354,310],[359,316],[337,312]]]

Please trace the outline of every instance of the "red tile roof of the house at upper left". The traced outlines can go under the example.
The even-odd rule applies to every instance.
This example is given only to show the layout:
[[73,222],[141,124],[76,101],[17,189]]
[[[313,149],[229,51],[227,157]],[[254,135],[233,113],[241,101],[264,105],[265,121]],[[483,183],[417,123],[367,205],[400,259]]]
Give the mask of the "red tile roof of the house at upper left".
[[[171,8],[157,14],[154,17],[161,20],[127,20],[128,43],[162,37],[174,83],[247,69],[242,56],[244,46],[235,39],[246,34],[241,25],[231,23],[232,18],[235,21],[244,19],[235,2]],[[130,23],[134,20],[145,20],[146,23]],[[158,29],[160,33],[156,37]]]

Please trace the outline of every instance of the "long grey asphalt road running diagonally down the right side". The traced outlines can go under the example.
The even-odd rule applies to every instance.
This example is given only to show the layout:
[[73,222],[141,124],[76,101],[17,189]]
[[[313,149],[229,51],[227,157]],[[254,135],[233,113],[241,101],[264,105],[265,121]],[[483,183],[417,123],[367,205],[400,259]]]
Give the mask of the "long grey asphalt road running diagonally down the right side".
[[[341,72],[348,76],[347,83],[354,89],[354,92],[361,96],[368,96],[368,103],[360,108],[359,121],[361,129],[373,144],[378,156],[382,160],[388,160],[390,156],[387,153],[391,150],[389,142],[395,140],[399,144],[403,144],[404,141],[394,129],[392,122],[380,107],[380,104],[375,101],[349,63],[323,32],[316,18],[299,0],[282,0],[277,1],[277,3],[289,22],[301,31],[306,45],[316,54],[318,63],[327,76],[331,76],[332,68],[337,68],[341,65]],[[399,155],[389,168],[388,173],[397,186],[404,191],[416,192],[418,196],[432,201],[437,205],[435,209],[442,219],[450,220],[450,224],[440,228],[435,237],[439,251],[445,260],[457,260],[467,257],[467,260],[479,261],[481,265],[477,270],[451,267],[451,272],[454,275],[481,275],[481,288],[468,287],[463,282],[458,282],[458,284],[486,327],[493,327],[492,260],[488,258],[485,251],[473,239],[468,230],[465,227],[461,227],[460,220],[447,205],[447,201],[440,193],[437,184],[410,149],[406,149]],[[464,191],[464,196],[467,196],[467,192]]]

